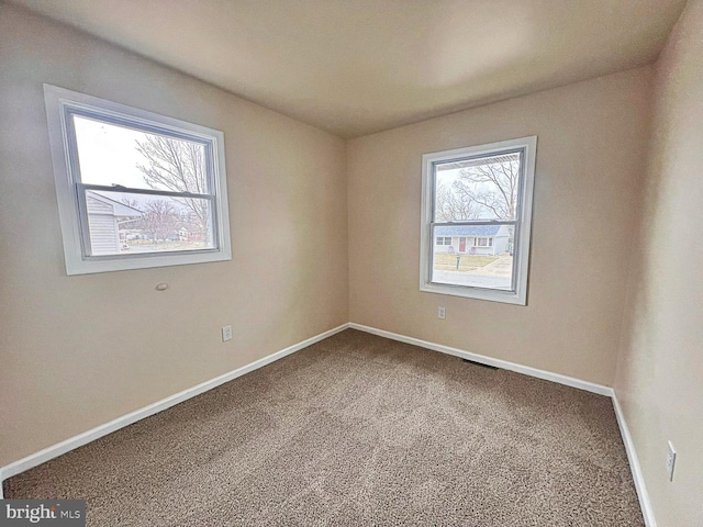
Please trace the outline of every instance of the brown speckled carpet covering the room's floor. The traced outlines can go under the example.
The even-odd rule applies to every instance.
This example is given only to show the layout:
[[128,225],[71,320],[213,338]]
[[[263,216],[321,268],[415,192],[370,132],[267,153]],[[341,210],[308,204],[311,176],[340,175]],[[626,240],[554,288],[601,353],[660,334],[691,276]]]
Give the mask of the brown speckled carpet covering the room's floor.
[[641,526],[610,399],[348,329],[4,484],[89,526]]

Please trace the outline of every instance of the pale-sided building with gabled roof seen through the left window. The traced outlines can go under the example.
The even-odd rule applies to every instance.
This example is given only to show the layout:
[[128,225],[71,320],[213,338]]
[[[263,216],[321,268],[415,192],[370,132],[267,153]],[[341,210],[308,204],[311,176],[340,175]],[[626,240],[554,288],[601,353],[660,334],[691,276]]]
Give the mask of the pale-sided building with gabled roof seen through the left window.
[[119,255],[120,225],[142,217],[141,211],[90,190],[86,191],[86,209],[92,255]]

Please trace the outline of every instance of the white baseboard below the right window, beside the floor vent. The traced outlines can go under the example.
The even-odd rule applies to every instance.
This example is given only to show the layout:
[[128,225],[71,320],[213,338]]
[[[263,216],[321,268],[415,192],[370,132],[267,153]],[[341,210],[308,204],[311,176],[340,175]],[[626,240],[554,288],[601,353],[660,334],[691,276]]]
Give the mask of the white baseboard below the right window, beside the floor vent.
[[494,366],[503,370],[515,371],[517,373],[524,373],[525,375],[536,377],[537,379],[544,379],[546,381],[557,382],[559,384],[566,384],[567,386],[578,388],[579,390],[585,390],[587,392],[598,393],[599,395],[613,395],[613,389],[604,386],[602,384],[595,384],[593,382],[583,381],[573,377],[562,375],[560,373],[554,373],[551,371],[539,370],[529,366],[517,365],[515,362],[509,362],[507,360],[494,359],[493,357],[487,357],[484,355],[472,354],[462,349],[453,348],[450,346],[444,346],[442,344],[429,343],[427,340],[421,340],[414,337],[406,337],[405,335],[399,335],[397,333],[387,332],[384,329],[377,329],[376,327],[362,326],[361,324],[350,323],[349,327],[353,329],[359,329],[360,332],[371,333],[380,337],[390,338],[400,343],[412,344],[427,349],[433,349],[442,354],[454,355],[455,357],[461,357],[462,359],[472,360],[473,362],[480,362],[481,365]]

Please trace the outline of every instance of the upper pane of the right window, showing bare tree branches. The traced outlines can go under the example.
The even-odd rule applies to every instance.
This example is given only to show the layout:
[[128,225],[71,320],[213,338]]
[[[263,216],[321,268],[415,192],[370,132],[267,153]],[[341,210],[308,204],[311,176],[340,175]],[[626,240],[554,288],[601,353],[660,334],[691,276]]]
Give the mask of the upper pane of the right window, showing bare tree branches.
[[514,221],[521,153],[435,165],[435,222]]

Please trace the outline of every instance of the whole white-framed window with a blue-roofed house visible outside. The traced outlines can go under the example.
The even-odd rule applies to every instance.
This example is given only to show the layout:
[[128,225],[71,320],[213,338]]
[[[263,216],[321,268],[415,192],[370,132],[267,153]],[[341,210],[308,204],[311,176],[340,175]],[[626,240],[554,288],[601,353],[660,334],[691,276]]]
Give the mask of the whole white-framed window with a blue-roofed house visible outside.
[[[525,305],[537,137],[423,156],[421,291]],[[444,236],[475,242],[457,255]]]

